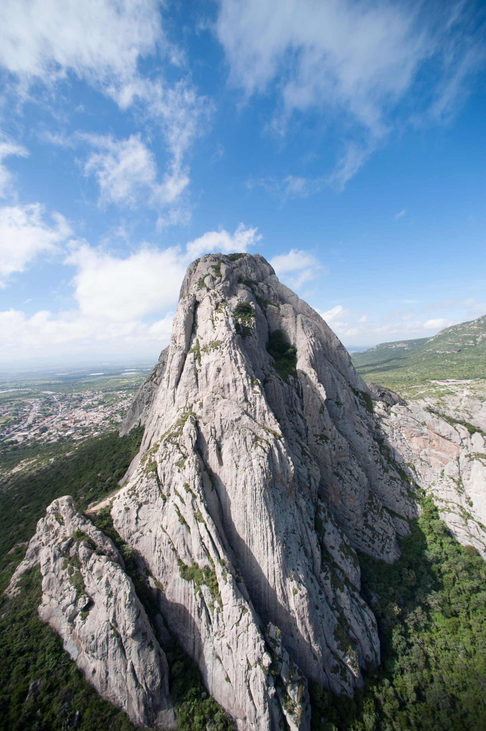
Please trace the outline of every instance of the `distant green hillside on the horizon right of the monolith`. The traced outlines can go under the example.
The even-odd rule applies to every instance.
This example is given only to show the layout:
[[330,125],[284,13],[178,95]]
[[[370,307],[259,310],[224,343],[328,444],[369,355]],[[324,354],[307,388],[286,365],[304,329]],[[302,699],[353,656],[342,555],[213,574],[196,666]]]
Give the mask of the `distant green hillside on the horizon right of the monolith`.
[[400,387],[431,379],[486,378],[486,315],[433,338],[381,343],[352,354],[365,381]]

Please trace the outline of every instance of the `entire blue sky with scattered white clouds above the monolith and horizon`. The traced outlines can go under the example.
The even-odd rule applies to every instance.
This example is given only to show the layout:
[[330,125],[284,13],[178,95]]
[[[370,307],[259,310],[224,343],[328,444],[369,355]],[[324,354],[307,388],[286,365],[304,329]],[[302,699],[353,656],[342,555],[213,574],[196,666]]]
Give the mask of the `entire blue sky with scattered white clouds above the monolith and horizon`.
[[477,2],[4,0],[0,362],[155,359],[258,252],[346,346],[486,312]]

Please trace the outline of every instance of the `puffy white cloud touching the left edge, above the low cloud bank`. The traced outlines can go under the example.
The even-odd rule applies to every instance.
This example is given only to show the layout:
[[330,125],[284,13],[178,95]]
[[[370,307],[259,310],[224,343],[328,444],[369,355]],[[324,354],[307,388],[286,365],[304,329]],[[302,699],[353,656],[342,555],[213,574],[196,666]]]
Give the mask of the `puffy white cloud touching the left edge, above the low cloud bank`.
[[3,206],[0,208],[0,287],[10,276],[22,272],[38,254],[58,251],[72,234],[61,213],[53,213],[53,224],[45,221],[42,205]]

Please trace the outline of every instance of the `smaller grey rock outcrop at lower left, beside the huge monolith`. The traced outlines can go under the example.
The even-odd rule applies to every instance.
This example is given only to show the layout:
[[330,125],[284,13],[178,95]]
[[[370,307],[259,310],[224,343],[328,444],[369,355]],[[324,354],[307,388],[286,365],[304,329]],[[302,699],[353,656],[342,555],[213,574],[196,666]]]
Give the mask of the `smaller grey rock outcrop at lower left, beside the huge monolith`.
[[167,660],[113,542],[80,515],[70,497],[53,501],[37,523],[10,595],[40,564],[39,617],[96,691],[136,725],[175,728]]

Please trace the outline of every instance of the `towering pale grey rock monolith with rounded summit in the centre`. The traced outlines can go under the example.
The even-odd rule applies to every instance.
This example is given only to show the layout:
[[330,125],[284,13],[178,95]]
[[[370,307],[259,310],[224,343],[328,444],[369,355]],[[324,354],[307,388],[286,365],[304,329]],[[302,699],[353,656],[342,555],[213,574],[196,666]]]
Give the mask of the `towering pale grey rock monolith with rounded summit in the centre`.
[[[267,352],[276,331],[295,371]],[[372,410],[338,338],[262,257],[189,267],[111,513],[239,729],[306,729],[305,678],[351,694],[379,662],[354,548],[393,561],[414,505]]]

